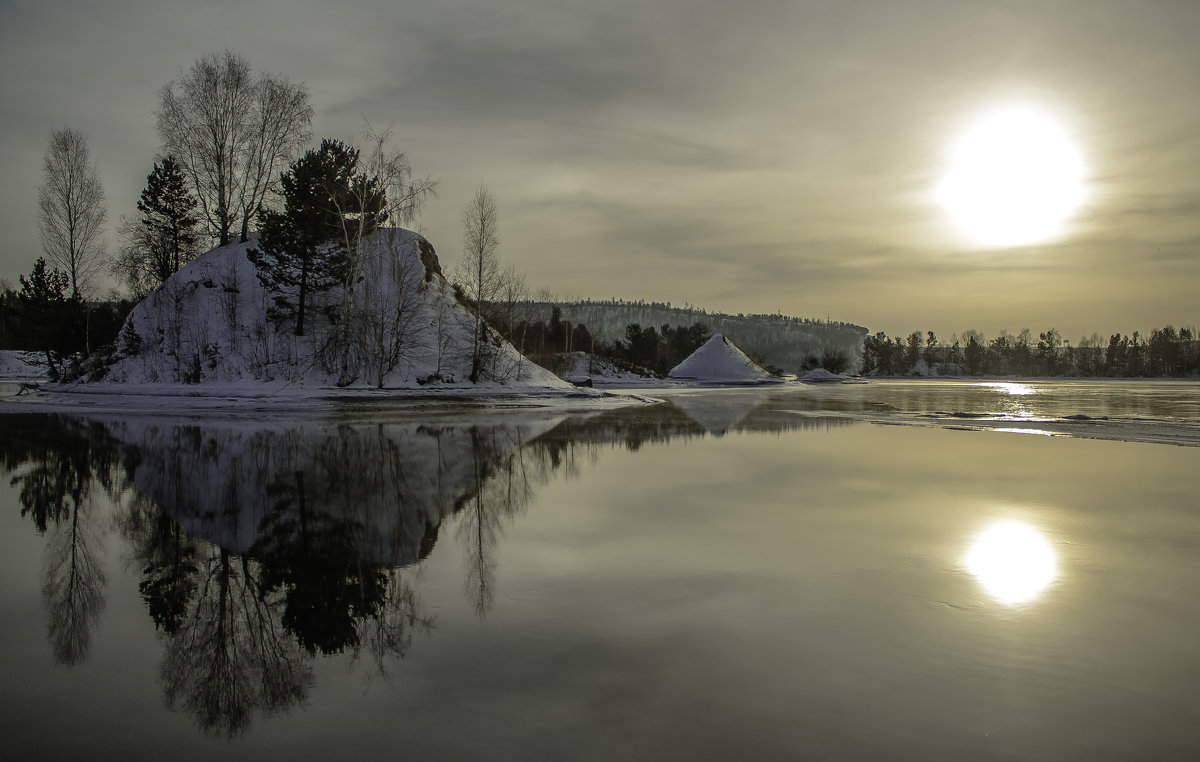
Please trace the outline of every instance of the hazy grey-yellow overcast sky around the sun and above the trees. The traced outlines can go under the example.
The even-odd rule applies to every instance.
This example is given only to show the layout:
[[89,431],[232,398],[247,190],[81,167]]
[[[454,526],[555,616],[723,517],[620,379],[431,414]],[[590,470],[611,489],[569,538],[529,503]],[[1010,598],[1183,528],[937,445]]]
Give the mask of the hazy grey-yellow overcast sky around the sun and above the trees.
[[[115,223],[163,84],[230,49],[307,84],[320,137],[391,126],[440,182],[444,266],[480,184],[500,256],[566,298],[832,317],[940,335],[1200,323],[1194,0],[0,0],[0,277],[40,254],[50,130],[88,138]],[[1072,136],[1087,200],[983,248],[932,188],[973,115]]]

